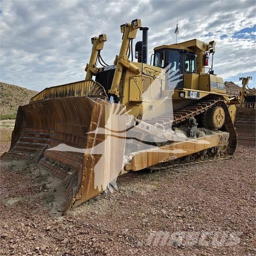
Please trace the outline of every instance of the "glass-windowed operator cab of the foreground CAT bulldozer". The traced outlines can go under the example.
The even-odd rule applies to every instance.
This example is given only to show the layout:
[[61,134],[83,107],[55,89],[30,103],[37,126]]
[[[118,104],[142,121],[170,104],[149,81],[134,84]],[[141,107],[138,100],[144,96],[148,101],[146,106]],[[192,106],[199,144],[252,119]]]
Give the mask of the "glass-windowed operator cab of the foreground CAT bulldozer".
[[154,49],[153,66],[165,68],[166,88],[184,87],[184,75],[196,73],[195,51],[180,45],[163,45]]

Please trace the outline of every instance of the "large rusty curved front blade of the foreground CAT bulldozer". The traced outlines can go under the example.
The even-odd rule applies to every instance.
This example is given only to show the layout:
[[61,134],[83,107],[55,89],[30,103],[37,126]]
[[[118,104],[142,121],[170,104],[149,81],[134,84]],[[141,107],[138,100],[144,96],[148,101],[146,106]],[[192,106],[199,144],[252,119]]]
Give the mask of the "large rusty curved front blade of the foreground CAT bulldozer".
[[118,115],[122,108],[96,96],[52,98],[20,106],[10,150],[1,159],[27,159],[62,179],[64,214],[71,205],[103,192],[121,174],[125,139],[108,131],[125,130],[125,115]]

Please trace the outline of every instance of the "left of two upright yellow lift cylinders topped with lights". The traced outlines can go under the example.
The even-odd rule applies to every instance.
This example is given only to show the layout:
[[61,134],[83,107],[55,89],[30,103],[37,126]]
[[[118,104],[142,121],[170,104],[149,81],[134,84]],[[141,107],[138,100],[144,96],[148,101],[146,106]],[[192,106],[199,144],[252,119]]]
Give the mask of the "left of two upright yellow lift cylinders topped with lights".
[[93,46],[92,46],[90,61],[85,67],[85,71],[86,71],[85,80],[91,79],[93,75],[97,74],[98,68],[97,68],[96,62],[97,62],[98,52],[103,49],[105,41],[107,41],[107,36],[105,34],[102,34],[99,37],[92,38]]

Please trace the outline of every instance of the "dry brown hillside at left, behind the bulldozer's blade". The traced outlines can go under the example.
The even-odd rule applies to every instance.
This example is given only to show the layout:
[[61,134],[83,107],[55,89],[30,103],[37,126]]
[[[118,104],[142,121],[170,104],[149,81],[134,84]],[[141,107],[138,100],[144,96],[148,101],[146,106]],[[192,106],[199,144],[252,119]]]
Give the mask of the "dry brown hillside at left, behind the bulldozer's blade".
[[37,91],[32,91],[13,84],[0,82],[1,119],[15,118],[20,105],[28,104]]

